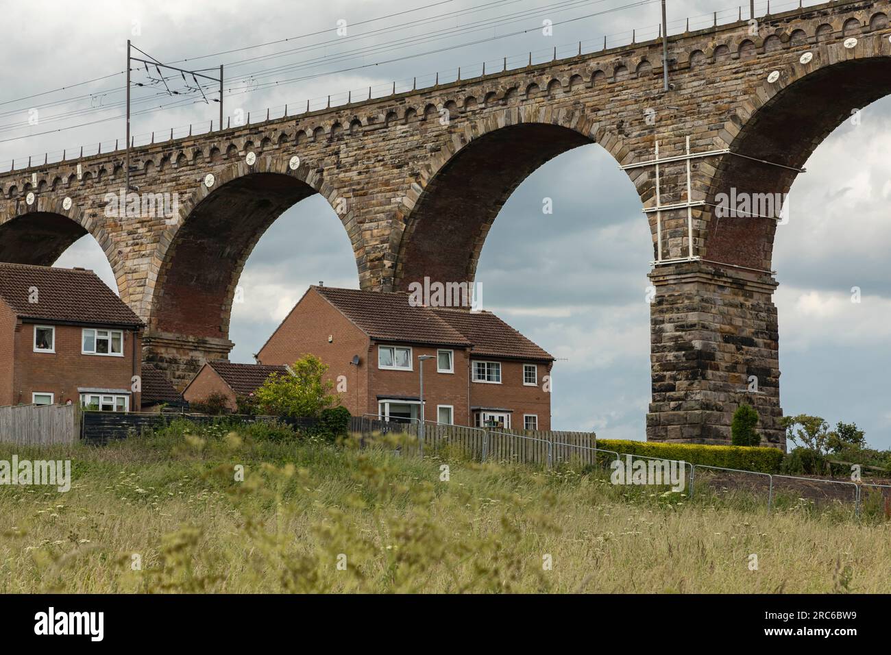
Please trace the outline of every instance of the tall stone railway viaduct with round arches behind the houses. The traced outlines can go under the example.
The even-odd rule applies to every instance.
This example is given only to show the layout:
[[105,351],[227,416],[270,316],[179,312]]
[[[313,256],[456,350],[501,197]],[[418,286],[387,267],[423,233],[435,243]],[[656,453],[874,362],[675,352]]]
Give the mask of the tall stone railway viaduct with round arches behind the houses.
[[331,203],[364,289],[470,281],[518,184],[599,143],[652,233],[648,438],[726,443],[745,399],[784,446],[778,220],[715,205],[788,192],[822,139],[891,93],[887,12],[887,0],[848,0],[671,37],[667,92],[657,40],[136,148],[131,184],[176,193],[172,219],[107,215],[124,151],[14,170],[0,174],[0,260],[49,266],[91,233],[147,324],[145,359],[182,388],[228,355],[241,269],[294,203]]

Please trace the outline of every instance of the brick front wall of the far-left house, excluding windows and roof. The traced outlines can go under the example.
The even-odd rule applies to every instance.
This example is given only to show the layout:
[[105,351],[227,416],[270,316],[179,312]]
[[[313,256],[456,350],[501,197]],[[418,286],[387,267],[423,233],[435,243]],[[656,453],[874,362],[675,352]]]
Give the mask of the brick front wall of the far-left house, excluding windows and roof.
[[[0,319],[0,323],[4,321]],[[52,322],[37,323],[52,325]],[[131,389],[134,375],[142,372],[142,343],[132,330],[122,330],[123,356],[81,354],[80,325],[55,325],[55,352],[34,352],[34,323],[20,323],[9,337],[3,325],[2,340],[11,340],[14,349],[14,372],[9,405],[29,404],[32,393],[52,393],[57,404],[70,400],[80,402],[78,389]],[[118,329],[118,328],[115,328]],[[135,344],[134,344],[135,340]],[[8,342],[8,341],[7,341]],[[8,350],[0,345],[0,356]],[[134,359],[134,352],[136,357]],[[0,360],[2,361],[2,360]],[[140,394],[131,393],[130,411],[138,412]]]

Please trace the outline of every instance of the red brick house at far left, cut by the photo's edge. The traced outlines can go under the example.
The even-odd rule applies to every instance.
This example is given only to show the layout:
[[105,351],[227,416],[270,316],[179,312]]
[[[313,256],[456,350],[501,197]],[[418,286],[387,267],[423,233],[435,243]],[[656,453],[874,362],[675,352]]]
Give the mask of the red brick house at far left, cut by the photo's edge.
[[138,411],[142,329],[93,271],[0,264],[0,405]]

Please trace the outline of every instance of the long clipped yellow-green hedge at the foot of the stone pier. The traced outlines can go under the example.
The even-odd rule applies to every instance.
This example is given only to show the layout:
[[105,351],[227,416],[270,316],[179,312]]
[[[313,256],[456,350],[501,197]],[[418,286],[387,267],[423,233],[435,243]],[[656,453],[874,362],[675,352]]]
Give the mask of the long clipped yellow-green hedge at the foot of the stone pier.
[[660,459],[683,460],[691,464],[721,466],[725,469],[779,473],[783,452],[762,446],[707,446],[706,444],[665,444],[658,441],[597,439],[597,447],[621,454],[640,454]]

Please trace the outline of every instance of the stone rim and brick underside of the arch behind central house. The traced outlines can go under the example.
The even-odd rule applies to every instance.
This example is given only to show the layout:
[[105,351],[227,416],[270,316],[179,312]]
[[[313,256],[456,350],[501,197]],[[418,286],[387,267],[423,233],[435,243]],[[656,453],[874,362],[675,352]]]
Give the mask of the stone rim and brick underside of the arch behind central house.
[[[425,275],[472,281],[495,217],[536,168],[588,143],[600,143],[619,163],[633,158],[620,138],[604,136],[583,111],[549,118],[541,120],[533,105],[497,111],[442,143],[396,209],[389,243],[396,259],[392,282],[372,282],[387,291],[406,289]],[[649,187],[646,176],[636,180],[639,193]]]

